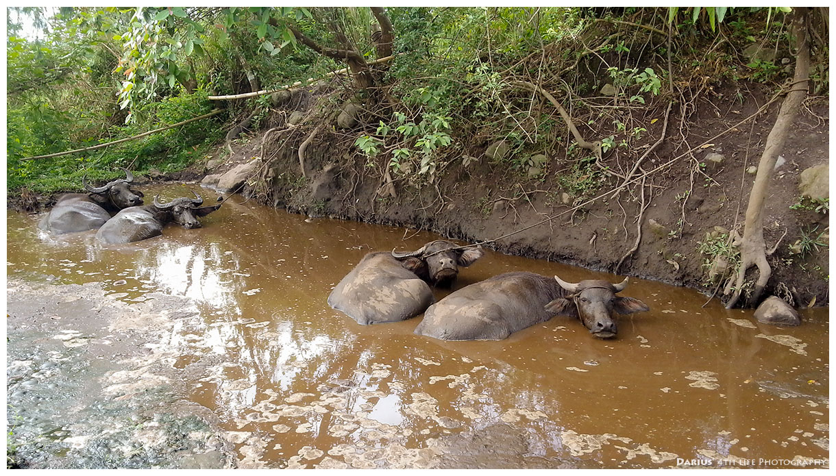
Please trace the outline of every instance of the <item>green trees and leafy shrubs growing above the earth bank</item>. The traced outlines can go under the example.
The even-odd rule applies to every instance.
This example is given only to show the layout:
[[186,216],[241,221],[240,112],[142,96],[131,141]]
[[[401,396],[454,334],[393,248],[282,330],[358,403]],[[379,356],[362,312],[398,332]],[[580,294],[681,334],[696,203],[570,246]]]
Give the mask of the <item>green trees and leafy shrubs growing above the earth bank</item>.
[[[351,130],[344,145],[364,156],[367,173],[391,174],[407,186],[434,183],[454,160],[499,140],[508,150],[495,165],[521,178],[529,178],[534,154],[571,160],[577,144],[564,119],[520,84],[553,94],[587,139],[601,141],[604,154],[635,155],[660,125],[654,126],[658,115],[643,117],[638,110],[674,98],[688,101],[693,91],[706,88],[706,79],[735,74],[729,72],[749,71],[736,77],[752,81],[786,78],[775,63],[747,63],[733,53],[752,42],[786,42],[789,11],[11,8],[8,189],[79,190],[83,175],[112,179],[120,175],[118,166],[139,173],[182,170],[253,111],[249,129],[271,124],[268,96],[226,102],[207,96],[277,88],[345,67],[353,76],[341,79],[317,106],[316,120],[348,99],[361,101],[362,127]],[[27,18],[41,29],[38,39],[23,36]],[[712,48],[718,35],[736,44]],[[670,52],[675,54],[669,70]],[[394,61],[370,65],[392,54]],[[818,89],[826,89],[824,64],[813,70]],[[674,98],[670,79],[684,85]],[[700,86],[689,89],[692,80]],[[599,95],[604,84],[615,88],[614,107],[584,100]],[[224,106],[222,115],[143,139],[22,160],[129,138]],[[541,174],[530,178],[556,175],[568,193],[583,196],[609,176],[600,162],[566,165],[539,166]]]

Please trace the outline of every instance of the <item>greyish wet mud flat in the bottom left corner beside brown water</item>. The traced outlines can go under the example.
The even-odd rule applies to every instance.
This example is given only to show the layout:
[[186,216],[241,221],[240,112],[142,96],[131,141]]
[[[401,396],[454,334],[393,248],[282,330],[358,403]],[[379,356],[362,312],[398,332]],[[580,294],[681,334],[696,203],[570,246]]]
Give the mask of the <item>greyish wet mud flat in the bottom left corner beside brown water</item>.
[[128,306],[100,283],[7,288],[7,419],[17,468],[231,468],[217,418],[181,398],[161,337],[198,312],[152,293]]

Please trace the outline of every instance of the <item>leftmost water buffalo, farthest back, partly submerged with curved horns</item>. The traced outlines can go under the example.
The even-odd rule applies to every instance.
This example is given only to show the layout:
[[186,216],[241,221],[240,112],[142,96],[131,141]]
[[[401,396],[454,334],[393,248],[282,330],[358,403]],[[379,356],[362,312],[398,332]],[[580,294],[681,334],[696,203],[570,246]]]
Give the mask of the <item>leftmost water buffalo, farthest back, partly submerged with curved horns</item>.
[[90,193],[62,195],[53,209],[43,216],[38,227],[56,235],[95,230],[110,220],[111,213],[142,205],[142,197],[145,195],[130,189],[134,175],[130,170],[122,170],[125,171],[125,179],[113,180],[101,187],[88,185],[87,177],[83,177],[81,183]]

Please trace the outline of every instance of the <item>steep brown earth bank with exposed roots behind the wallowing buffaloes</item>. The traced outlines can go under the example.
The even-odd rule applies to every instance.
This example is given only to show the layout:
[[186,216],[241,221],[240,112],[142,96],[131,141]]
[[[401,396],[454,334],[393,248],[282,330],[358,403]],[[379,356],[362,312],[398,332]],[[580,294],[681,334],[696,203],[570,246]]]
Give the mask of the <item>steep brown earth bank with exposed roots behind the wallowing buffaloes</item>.
[[[733,91],[723,94],[732,96]],[[666,163],[752,114],[763,102],[765,90],[750,94],[744,104],[734,104],[719,117],[714,112],[716,106],[701,104],[689,124],[687,143],[668,139],[646,160],[646,168]],[[773,107],[765,117],[773,117],[776,110],[777,106]],[[815,119],[813,113],[827,117],[828,104],[813,102],[791,126],[790,139],[781,151],[783,160],[779,160],[770,183],[764,230],[767,246],[780,241],[769,257],[772,279],[766,291],[792,300],[796,306],[805,306],[813,298],[816,306],[826,306],[829,301],[827,233],[818,236],[823,246],[815,251],[811,248],[799,254],[791,247],[829,225],[827,213],[797,206],[801,173],[828,163],[828,125]],[[649,114],[660,117],[664,111],[651,110]],[[661,121],[647,127],[653,137],[660,134]],[[266,205],[312,216],[431,230],[470,242],[508,235],[487,247],[711,294],[716,284],[706,277],[709,256],[701,255],[698,249],[701,242],[706,242],[706,235],[727,235],[735,229],[742,232],[754,180],[752,166],[757,165],[762,139],[771,127],[771,120],[757,120],[751,134],[748,127],[746,131],[733,129],[705,148],[685,154],[647,177],[648,184],[653,185],[645,190],[646,196],[635,187],[628,188],[577,210],[573,207],[613,190],[620,179],[600,173],[594,180],[573,175],[577,160],[568,159],[562,149],[545,151],[547,161],[542,164],[542,173],[528,176],[525,170],[509,165],[510,159],[488,158],[490,143],[476,139],[470,141],[470,149],[461,151],[461,160],[452,159],[433,183],[410,184],[412,179],[395,175],[394,196],[384,193],[386,180],[380,172],[380,158],[375,161],[365,157],[354,146],[354,139],[366,133],[362,130],[318,134],[306,152],[305,177],[299,172],[301,138],[298,142],[265,141],[263,134],[252,137],[230,159],[213,165],[206,173],[221,174],[256,159],[256,171],[242,190]],[[605,165],[613,170],[624,167],[621,162],[627,159],[620,159],[619,154],[623,153],[615,150],[606,156]],[[718,156],[721,159],[716,159]],[[578,190],[581,182],[584,190]],[[646,200],[644,211],[642,200]],[[539,222],[543,223],[535,225]],[[637,242],[639,230],[641,238]],[[630,255],[634,246],[636,250]],[[725,276],[731,273],[726,271]],[[744,289],[744,297],[746,292]]]

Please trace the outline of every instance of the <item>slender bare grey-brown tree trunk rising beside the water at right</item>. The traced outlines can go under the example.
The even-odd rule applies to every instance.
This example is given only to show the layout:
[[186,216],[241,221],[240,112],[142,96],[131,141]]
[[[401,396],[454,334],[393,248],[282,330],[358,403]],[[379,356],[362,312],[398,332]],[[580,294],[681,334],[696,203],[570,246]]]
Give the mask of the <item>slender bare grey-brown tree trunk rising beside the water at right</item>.
[[[775,119],[767,137],[767,144],[763,149],[761,160],[757,165],[755,183],[752,185],[752,193],[749,195],[749,205],[746,210],[746,220],[743,227],[743,237],[740,246],[740,267],[737,269],[737,281],[734,285],[732,297],[726,303],[726,309],[731,309],[740,298],[746,271],[757,266],[758,276],[752,297],[749,304],[757,304],[763,288],[767,285],[769,277],[772,276],[772,268],[767,262],[767,245],[763,239],[763,210],[767,199],[767,188],[772,178],[772,170],[775,168],[778,153],[783,149],[787,141],[789,128],[795,119],[798,109],[804,98],[807,97],[808,75],[810,69],[810,48],[808,35],[808,12],[805,7],[794,8],[794,30],[796,45],[798,46],[798,57],[795,63],[795,74],[793,84],[790,85],[787,97],[781,104],[781,110]],[[732,291],[732,281],[726,286],[725,294]]]

